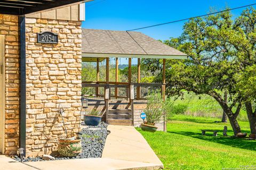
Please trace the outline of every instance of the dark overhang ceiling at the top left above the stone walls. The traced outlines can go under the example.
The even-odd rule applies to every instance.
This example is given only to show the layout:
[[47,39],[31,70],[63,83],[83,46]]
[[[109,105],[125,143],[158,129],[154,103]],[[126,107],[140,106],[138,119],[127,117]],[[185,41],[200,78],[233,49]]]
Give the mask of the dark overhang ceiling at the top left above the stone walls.
[[0,13],[25,15],[88,1],[91,0],[1,0]]

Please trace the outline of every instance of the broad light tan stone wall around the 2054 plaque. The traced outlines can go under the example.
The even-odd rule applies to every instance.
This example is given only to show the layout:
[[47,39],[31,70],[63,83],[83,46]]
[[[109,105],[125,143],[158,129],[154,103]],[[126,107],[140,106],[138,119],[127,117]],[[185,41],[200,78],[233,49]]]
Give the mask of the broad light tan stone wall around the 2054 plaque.
[[[36,43],[38,32],[59,34],[58,44]],[[78,132],[81,111],[81,22],[26,18],[27,156],[50,154],[58,138]]]

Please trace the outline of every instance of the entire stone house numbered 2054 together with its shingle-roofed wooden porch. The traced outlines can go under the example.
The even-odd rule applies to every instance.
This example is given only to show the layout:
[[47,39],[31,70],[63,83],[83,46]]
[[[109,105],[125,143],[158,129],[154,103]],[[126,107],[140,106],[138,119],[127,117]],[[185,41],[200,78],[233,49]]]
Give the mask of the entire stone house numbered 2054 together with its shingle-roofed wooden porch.
[[[50,154],[57,150],[58,137],[64,133],[60,109],[65,111],[63,117],[68,131],[79,131],[82,61],[106,60],[108,63],[109,57],[128,57],[131,66],[131,57],[138,60],[143,57],[163,58],[164,61],[166,58],[186,57],[186,54],[140,33],[82,31],[84,2],[87,1],[0,2],[2,154],[15,155],[19,148],[25,149],[25,156]],[[106,46],[106,41],[112,43],[110,46],[113,48]],[[99,103],[107,108],[107,112],[108,105],[112,105],[107,92],[109,87],[118,89],[125,86],[128,100],[121,103],[129,101],[125,105],[135,108],[139,101],[134,101],[133,87],[136,86],[139,93],[141,86],[148,85],[139,81],[134,84],[130,79],[124,84],[117,81],[112,83],[108,77],[106,82],[83,82],[83,86],[94,86],[96,89],[105,87],[103,101]],[[164,96],[165,79],[157,86],[162,88]],[[118,98],[118,92],[115,98]],[[140,99],[138,95],[137,99]],[[91,104],[93,106],[93,101]],[[138,107],[137,116],[143,109],[141,106]],[[135,113],[135,109],[132,110]],[[109,122],[109,114],[105,116]],[[134,120],[131,125],[134,125]]]

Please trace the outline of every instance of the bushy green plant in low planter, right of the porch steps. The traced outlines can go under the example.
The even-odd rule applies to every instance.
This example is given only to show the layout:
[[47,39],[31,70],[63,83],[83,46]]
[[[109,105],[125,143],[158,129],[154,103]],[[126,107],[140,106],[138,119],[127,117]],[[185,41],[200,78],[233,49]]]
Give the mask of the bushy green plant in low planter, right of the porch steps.
[[145,109],[146,121],[140,127],[143,131],[155,132],[156,123],[163,119],[163,101],[160,94],[151,94],[147,97],[148,103]]

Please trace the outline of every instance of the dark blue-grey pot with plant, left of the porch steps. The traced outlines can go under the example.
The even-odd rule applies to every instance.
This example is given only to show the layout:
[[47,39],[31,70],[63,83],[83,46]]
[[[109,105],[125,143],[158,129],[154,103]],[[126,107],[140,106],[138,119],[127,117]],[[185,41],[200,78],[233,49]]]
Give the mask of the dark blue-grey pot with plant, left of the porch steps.
[[101,116],[101,111],[93,108],[89,114],[84,115],[84,123],[88,126],[97,126],[101,122]]

